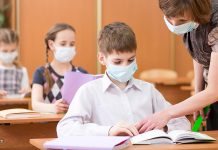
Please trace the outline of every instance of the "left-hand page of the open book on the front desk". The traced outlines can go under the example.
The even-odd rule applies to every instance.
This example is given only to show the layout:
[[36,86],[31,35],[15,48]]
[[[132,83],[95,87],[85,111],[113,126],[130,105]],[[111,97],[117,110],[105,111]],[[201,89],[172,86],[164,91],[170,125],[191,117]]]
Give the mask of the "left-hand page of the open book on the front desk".
[[[151,139],[155,139],[155,138],[166,138],[166,139],[169,139],[171,140],[170,136],[168,136],[164,131],[162,130],[151,130],[151,131],[148,131],[148,132],[145,132],[145,133],[142,133],[142,134],[139,134],[139,135],[136,135],[134,137],[132,137],[130,140],[131,140],[131,143],[132,144],[146,144],[145,141],[149,140],[149,142],[152,144],[152,141]],[[167,140],[169,143],[169,140]],[[144,141],[144,142],[143,142]],[[155,140],[157,143],[157,140]],[[161,142],[161,139],[160,139],[160,142]],[[161,142],[163,143],[163,142]]]

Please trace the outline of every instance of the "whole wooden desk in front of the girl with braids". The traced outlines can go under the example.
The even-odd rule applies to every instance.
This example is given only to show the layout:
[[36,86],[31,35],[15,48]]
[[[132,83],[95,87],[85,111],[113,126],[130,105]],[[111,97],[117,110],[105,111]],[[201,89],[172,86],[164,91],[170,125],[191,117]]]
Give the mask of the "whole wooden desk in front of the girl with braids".
[[0,149],[34,149],[31,138],[55,138],[57,122],[64,114],[43,114],[36,118],[0,118]]

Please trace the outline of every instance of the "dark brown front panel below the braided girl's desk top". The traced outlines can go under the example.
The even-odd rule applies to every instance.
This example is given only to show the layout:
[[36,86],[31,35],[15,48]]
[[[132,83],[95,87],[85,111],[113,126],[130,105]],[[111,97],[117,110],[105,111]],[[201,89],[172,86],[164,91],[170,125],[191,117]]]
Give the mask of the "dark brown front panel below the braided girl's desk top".
[[0,125],[0,149],[34,150],[29,139],[55,138],[57,122]]

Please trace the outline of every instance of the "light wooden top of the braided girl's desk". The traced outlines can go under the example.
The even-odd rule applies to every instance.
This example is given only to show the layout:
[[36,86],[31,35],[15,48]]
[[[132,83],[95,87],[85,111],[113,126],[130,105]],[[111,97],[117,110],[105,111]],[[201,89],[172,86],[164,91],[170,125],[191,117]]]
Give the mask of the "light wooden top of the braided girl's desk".
[[37,122],[57,122],[63,118],[64,114],[42,114],[40,117],[22,118],[22,119],[5,119],[0,117],[0,124],[21,124]]

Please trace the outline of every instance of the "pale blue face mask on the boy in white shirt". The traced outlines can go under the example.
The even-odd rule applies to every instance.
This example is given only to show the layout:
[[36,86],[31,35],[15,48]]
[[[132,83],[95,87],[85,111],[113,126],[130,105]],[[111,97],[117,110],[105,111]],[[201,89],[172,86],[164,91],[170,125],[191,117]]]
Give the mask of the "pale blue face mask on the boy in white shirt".
[[107,65],[107,74],[114,80],[119,82],[129,81],[137,70],[136,59],[128,66],[118,66],[113,64]]

